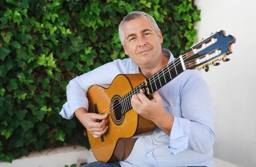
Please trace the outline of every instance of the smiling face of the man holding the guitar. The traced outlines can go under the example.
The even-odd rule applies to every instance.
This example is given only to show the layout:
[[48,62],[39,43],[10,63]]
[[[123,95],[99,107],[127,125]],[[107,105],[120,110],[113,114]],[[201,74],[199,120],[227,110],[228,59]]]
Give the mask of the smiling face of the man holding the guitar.
[[163,37],[159,35],[145,16],[123,24],[125,37],[125,54],[140,67],[154,67],[159,62]]

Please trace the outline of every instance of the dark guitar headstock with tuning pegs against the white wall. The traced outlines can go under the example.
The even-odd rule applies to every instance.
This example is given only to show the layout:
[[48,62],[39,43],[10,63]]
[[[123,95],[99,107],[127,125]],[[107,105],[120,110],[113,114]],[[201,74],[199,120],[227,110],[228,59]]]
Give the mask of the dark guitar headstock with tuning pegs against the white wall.
[[194,44],[184,53],[184,63],[188,69],[205,69],[208,71],[209,65],[218,66],[216,61],[228,61],[227,55],[232,53],[231,44],[236,42],[236,38],[225,35],[225,32],[212,33],[207,39]]

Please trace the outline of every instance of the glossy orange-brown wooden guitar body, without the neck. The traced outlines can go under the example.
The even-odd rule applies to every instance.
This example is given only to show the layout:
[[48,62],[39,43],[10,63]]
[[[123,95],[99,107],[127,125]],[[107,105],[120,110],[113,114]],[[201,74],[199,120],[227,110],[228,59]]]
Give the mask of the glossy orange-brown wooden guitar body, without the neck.
[[98,161],[113,162],[127,158],[140,135],[150,135],[155,124],[138,115],[134,109],[124,115],[118,101],[125,94],[143,83],[141,74],[117,75],[109,88],[94,85],[87,92],[88,112],[108,113],[108,130],[100,138],[87,131],[93,155]]

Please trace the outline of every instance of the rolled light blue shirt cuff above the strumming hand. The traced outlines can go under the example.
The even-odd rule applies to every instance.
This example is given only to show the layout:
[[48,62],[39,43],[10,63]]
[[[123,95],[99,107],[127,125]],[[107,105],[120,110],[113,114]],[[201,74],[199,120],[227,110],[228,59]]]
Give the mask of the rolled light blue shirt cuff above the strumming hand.
[[71,119],[75,116],[74,112],[76,109],[81,107],[85,108],[88,111],[89,103],[87,98],[79,98],[80,100],[69,100],[67,101],[59,113],[63,118]]

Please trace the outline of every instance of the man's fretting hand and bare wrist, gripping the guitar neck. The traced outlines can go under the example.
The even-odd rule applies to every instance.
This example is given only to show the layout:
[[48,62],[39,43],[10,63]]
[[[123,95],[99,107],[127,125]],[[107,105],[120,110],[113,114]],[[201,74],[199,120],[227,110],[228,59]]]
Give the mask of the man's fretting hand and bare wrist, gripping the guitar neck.
[[163,109],[162,98],[157,92],[154,92],[152,97],[153,99],[149,100],[144,95],[144,91],[140,90],[139,94],[131,98],[131,107],[137,114],[153,121],[167,135],[170,135],[174,117]]

